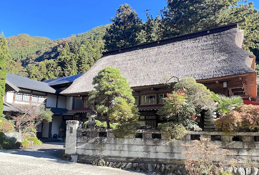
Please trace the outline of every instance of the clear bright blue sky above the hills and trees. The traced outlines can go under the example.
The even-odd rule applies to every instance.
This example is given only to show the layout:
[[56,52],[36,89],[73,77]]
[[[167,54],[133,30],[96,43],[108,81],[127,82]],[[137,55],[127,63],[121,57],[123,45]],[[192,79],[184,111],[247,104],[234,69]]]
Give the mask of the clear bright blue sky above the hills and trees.
[[[259,0],[253,0],[259,9]],[[116,9],[127,3],[145,21],[145,10],[156,17],[165,0],[3,0],[0,32],[5,37],[27,33],[52,40],[83,33],[110,23]]]

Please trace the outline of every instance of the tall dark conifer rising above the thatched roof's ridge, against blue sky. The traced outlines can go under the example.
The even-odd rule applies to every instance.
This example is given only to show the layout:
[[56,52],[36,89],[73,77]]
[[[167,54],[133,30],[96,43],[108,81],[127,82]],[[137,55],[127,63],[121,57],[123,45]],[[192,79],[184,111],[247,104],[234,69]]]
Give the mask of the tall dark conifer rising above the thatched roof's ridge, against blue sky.
[[114,50],[123,47],[140,44],[137,39],[142,28],[142,20],[136,11],[128,4],[121,5],[116,12],[115,18],[110,19],[113,23],[107,28],[104,36],[105,48]]

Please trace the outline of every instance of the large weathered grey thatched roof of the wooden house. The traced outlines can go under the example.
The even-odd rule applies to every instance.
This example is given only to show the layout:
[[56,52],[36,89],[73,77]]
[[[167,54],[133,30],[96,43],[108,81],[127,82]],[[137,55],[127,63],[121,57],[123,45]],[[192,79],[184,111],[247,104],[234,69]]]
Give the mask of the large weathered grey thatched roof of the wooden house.
[[[163,84],[172,76],[201,80],[255,72],[252,54],[241,49],[243,30],[208,31],[205,36],[176,39],[107,53],[61,94],[89,92],[94,87],[92,79],[106,66],[120,69],[131,87]],[[169,81],[174,82],[175,78]]]

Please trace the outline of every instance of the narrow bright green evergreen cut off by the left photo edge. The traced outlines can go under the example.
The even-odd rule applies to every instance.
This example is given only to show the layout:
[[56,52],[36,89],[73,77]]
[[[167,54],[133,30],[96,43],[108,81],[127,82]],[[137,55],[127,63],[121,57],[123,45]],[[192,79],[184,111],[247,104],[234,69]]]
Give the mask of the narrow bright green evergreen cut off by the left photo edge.
[[5,78],[6,78],[6,60],[9,57],[7,49],[7,41],[0,33],[0,117],[3,114],[3,96],[5,93]]

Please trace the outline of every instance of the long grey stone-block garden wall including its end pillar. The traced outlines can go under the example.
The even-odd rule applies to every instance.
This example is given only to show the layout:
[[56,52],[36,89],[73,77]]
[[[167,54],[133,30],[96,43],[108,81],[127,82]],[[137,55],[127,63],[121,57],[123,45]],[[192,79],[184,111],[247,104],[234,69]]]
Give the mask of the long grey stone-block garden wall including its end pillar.
[[[220,148],[234,152],[239,162],[249,160],[253,164],[247,163],[247,166],[258,168],[259,139],[257,136],[259,132],[235,133],[242,141],[232,141],[232,136],[223,132],[204,131],[189,131],[183,139],[176,140],[168,138],[167,135],[157,130],[138,130],[137,133],[142,138],[119,139],[115,137],[112,129],[78,129],[78,124],[77,121],[67,122],[66,160],[92,164],[104,159],[106,164],[108,162],[108,166],[118,166],[123,169],[125,167],[120,167],[122,163],[131,163],[130,168],[135,169],[141,169],[144,164],[144,167],[151,166],[154,172],[155,169],[161,169],[163,166],[178,167],[176,168],[178,171],[179,167],[181,168],[184,164],[184,156],[181,154],[184,150],[181,144],[192,143],[192,139],[206,137],[211,138],[211,142],[219,145]],[[121,164],[118,165],[119,163]],[[133,164],[134,166],[141,165],[141,167],[133,167]],[[241,165],[242,163],[237,164],[237,166]],[[234,173],[235,169],[232,170]],[[160,171],[160,173],[164,172]]]

